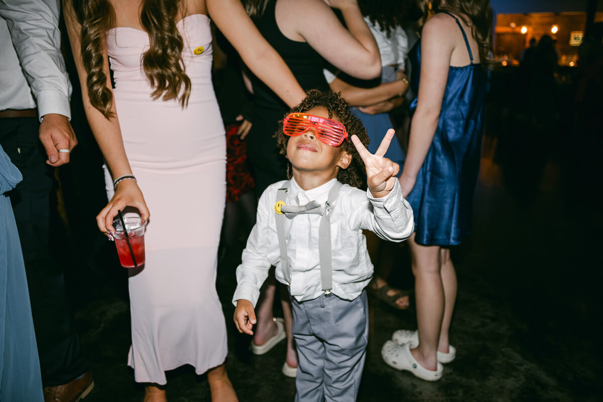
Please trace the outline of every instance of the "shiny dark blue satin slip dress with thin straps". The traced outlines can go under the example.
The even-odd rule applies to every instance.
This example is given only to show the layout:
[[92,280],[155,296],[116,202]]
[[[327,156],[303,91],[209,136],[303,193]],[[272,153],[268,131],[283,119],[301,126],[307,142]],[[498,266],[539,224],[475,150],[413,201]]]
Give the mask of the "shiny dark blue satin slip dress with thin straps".
[[[434,140],[408,195],[414,211],[415,241],[423,245],[458,245],[469,234],[484,132],[487,73],[481,64],[473,63],[466,33],[459,20],[449,15],[461,28],[471,64],[450,66]],[[415,49],[417,68],[411,83],[418,93],[420,41]],[[411,113],[416,107],[414,99]]]

